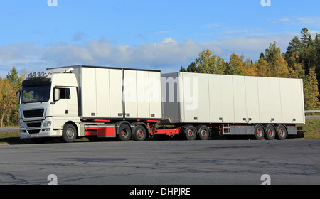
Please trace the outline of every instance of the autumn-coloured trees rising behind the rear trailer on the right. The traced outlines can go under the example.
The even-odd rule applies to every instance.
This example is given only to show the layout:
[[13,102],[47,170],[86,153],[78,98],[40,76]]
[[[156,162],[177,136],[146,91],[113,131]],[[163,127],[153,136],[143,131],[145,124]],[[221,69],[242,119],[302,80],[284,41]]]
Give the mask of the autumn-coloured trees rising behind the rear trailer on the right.
[[[250,45],[250,44],[248,44]],[[249,75],[260,77],[299,78],[304,82],[304,109],[320,108],[320,34],[313,39],[307,28],[302,28],[301,37],[294,36],[287,51],[281,53],[277,42],[270,43],[257,61],[245,59],[233,53],[226,62],[210,50],[203,50],[198,58],[181,72],[198,72],[224,75]]]

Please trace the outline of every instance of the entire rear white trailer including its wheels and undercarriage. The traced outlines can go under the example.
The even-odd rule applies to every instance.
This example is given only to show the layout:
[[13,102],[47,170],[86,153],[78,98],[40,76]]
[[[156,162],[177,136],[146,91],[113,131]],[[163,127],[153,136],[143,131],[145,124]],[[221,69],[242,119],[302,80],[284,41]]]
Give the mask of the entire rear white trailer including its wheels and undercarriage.
[[183,127],[187,139],[208,139],[210,129],[229,138],[303,136],[296,127],[305,123],[300,79],[190,72],[162,77],[164,121]]

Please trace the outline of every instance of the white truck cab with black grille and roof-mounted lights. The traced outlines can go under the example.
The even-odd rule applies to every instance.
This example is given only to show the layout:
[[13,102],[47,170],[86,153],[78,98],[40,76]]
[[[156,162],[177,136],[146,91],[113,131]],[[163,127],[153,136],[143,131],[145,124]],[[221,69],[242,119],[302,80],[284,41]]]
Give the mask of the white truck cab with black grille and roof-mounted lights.
[[42,143],[52,137],[63,137],[67,142],[76,138],[80,117],[78,84],[72,70],[33,72],[22,82],[21,139]]

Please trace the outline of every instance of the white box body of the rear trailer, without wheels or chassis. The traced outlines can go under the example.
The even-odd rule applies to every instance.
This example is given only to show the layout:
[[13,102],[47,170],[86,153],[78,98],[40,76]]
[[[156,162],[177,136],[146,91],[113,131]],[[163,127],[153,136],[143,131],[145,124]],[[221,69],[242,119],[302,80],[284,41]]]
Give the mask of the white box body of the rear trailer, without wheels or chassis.
[[300,79],[175,72],[161,85],[171,123],[305,122]]

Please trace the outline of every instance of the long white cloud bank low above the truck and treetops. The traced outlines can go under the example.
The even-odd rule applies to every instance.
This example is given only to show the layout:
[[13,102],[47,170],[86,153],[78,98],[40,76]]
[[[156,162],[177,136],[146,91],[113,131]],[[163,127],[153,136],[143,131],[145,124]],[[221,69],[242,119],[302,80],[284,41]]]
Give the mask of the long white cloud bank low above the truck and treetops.
[[187,67],[198,53],[209,49],[213,54],[225,60],[231,53],[242,53],[245,57],[256,60],[270,43],[277,41],[285,52],[294,35],[250,36],[224,38],[219,41],[194,42],[192,40],[176,41],[164,38],[156,43],[133,45],[114,45],[104,38],[75,43],[11,43],[0,45],[0,76],[6,74],[15,65],[18,70],[27,72],[46,70],[49,67],[65,65],[106,65],[126,68],[151,68],[163,72],[174,72],[180,66]]

